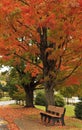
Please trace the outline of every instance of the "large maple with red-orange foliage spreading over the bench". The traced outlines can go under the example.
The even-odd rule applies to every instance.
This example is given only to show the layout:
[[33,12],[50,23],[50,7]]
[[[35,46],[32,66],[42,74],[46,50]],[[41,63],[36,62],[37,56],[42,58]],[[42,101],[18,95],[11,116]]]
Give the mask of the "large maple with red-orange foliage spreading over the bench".
[[1,0],[0,8],[1,55],[23,58],[26,71],[41,69],[48,104],[54,104],[58,84],[81,79],[82,1]]

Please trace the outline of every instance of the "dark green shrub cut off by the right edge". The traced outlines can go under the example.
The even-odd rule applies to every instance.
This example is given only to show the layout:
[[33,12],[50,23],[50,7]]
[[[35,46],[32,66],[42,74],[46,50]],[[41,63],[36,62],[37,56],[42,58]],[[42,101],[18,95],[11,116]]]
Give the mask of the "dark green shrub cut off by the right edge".
[[75,116],[82,119],[82,101],[75,105]]

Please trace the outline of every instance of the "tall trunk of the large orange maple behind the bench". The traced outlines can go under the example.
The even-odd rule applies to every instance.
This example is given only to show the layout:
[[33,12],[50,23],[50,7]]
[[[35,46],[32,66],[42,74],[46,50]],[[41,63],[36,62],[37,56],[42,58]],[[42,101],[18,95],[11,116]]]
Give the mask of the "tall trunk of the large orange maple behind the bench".
[[[55,49],[55,44],[48,43],[47,34],[48,29],[42,27],[38,29],[40,34],[40,57],[43,63],[43,77],[45,86],[45,95],[47,100],[47,105],[54,105],[54,80],[55,80],[55,68],[56,60],[49,59],[49,55],[52,52],[48,52],[48,48]],[[47,50],[47,51],[46,51]],[[53,74],[54,73],[54,74]]]

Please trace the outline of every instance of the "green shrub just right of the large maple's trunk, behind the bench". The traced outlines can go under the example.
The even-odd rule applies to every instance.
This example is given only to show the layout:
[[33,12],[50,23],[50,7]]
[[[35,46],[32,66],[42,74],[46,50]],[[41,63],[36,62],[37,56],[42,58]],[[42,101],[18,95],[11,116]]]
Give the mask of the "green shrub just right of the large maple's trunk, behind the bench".
[[60,94],[55,95],[55,105],[59,107],[63,107],[65,105],[65,101],[62,95]]

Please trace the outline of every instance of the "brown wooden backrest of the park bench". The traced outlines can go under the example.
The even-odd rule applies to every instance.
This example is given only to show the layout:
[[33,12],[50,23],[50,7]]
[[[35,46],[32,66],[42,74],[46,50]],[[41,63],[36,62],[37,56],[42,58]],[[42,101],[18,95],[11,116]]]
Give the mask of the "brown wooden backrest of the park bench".
[[64,107],[57,107],[57,106],[52,106],[49,105],[47,112],[56,114],[56,115],[62,115],[64,116],[66,109]]

